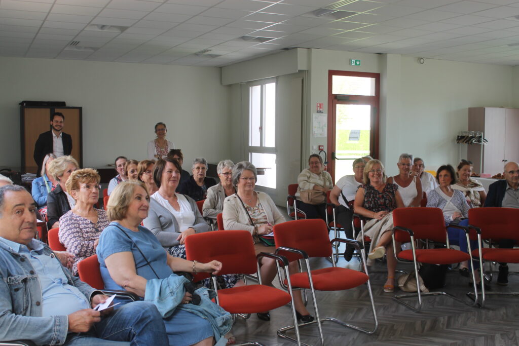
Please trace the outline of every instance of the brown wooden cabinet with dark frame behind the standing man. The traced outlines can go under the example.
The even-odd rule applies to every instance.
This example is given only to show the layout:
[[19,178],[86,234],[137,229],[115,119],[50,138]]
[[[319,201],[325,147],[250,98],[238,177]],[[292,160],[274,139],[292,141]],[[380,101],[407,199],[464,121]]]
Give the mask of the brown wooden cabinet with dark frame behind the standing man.
[[37,164],[34,162],[34,144],[40,133],[50,130],[50,115],[54,112],[63,113],[65,122],[63,132],[72,136],[71,155],[83,167],[83,139],[81,126],[81,107],[20,107],[21,129],[21,171],[36,173]]

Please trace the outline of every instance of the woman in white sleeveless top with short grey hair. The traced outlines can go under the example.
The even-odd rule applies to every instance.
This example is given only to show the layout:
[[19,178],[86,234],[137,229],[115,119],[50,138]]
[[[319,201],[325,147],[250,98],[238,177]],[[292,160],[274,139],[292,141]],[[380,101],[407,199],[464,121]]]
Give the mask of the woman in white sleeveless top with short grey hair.
[[398,185],[398,192],[405,206],[420,206],[420,201],[424,193],[422,192],[421,181],[413,174],[413,155],[400,155],[397,163],[400,173],[388,178],[388,183]]

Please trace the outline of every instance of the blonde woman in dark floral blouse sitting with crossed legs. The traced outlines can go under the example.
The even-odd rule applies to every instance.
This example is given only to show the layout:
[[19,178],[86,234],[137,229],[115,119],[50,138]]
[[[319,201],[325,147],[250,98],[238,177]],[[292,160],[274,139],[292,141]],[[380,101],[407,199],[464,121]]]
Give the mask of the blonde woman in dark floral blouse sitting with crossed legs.
[[[404,202],[397,184],[387,182],[384,165],[379,160],[371,160],[364,168],[364,184],[357,190],[353,210],[370,220],[364,225],[364,235],[371,238],[370,253],[367,264],[383,257],[387,253],[388,276],[384,284],[384,292],[394,290],[394,271],[397,259],[393,254],[390,230],[393,228],[392,211],[403,207]],[[362,240],[359,233],[357,240]],[[400,244],[397,244],[399,248]]]

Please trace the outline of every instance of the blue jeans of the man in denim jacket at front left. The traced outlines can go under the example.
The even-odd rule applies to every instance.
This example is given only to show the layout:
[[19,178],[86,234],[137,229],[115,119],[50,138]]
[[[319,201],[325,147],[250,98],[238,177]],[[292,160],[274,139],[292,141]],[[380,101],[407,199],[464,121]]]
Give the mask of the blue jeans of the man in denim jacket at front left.
[[88,333],[70,333],[67,346],[168,345],[166,328],[155,305],[145,301],[127,303],[102,316]]

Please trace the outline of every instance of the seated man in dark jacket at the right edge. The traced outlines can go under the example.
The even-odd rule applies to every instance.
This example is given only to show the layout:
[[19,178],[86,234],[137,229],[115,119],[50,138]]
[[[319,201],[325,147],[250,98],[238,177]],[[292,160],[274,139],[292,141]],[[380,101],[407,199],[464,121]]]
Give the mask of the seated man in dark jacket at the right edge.
[[[504,180],[498,180],[488,187],[488,195],[485,199],[485,206],[519,208],[519,164],[508,162],[504,165]],[[501,239],[499,248],[512,248],[515,241],[511,239]],[[508,265],[499,264],[499,274],[497,283],[502,286],[508,285]]]

